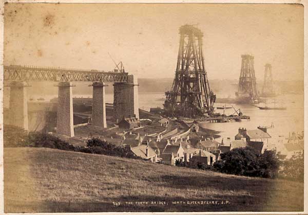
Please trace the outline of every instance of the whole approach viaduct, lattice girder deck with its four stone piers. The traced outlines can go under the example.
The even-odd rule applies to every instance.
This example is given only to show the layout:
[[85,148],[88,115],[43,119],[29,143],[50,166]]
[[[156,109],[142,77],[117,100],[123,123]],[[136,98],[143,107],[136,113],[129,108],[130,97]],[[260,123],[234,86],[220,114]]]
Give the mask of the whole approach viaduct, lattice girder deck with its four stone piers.
[[28,130],[27,88],[29,82],[57,82],[57,133],[74,136],[73,82],[90,82],[93,87],[92,125],[106,128],[105,83],[113,82],[114,117],[136,115],[139,118],[138,82],[123,72],[65,69],[36,66],[4,66],[4,81],[10,87],[10,122]]

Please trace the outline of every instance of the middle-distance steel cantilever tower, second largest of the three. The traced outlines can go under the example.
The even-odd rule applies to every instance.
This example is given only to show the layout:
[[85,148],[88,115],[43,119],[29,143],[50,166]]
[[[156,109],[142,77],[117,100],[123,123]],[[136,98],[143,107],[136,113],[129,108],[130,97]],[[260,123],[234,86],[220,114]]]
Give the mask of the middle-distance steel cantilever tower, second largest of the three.
[[238,96],[238,103],[258,102],[259,93],[255,77],[254,56],[242,55],[239,89],[236,96]]

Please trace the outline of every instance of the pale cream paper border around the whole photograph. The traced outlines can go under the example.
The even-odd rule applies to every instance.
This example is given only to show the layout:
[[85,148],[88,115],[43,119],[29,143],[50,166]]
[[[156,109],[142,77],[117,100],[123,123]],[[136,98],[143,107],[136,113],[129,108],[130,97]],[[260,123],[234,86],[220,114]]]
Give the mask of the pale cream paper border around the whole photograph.
[[[306,137],[308,132],[308,68],[307,68],[307,51],[308,51],[308,0],[200,0],[200,1],[189,1],[189,0],[151,0],[151,1],[140,1],[140,0],[49,0],[49,1],[35,1],[35,0],[6,0],[0,1],[0,214],[20,214],[20,213],[4,213],[4,145],[3,145],[3,89],[4,89],[4,5],[7,3],[66,3],[66,4],[125,4],[125,3],[155,3],[155,4],[301,4],[304,7],[304,136]],[[308,214],[308,138],[304,138],[304,211],[302,212],[92,212],[91,214]],[[36,214],[36,213],[23,213],[23,214]],[[37,213],[42,214],[42,213]],[[44,214],[63,214],[63,213],[44,213]],[[82,212],[65,213],[65,214],[89,214]]]

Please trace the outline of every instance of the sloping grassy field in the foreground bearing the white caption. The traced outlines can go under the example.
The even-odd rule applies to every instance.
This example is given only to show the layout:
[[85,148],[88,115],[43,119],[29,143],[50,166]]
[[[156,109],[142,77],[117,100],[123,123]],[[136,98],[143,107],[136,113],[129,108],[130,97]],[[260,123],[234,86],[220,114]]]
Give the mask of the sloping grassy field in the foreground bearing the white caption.
[[4,149],[5,212],[302,211],[303,188],[105,155]]

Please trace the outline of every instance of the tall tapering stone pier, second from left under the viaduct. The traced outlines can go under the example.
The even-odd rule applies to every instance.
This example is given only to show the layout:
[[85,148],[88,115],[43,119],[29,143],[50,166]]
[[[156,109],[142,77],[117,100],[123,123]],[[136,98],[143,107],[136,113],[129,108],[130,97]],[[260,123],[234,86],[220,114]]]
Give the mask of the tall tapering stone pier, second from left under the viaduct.
[[57,85],[58,103],[56,132],[69,137],[74,136],[72,82],[59,82]]

